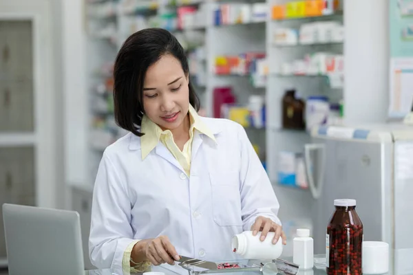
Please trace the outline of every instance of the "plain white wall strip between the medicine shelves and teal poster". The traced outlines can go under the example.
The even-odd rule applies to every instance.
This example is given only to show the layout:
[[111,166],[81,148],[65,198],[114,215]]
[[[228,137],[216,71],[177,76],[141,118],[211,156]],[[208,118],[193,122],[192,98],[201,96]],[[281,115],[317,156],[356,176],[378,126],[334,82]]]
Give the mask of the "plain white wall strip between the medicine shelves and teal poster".
[[387,120],[390,95],[388,8],[388,1],[344,1],[344,117],[348,124]]

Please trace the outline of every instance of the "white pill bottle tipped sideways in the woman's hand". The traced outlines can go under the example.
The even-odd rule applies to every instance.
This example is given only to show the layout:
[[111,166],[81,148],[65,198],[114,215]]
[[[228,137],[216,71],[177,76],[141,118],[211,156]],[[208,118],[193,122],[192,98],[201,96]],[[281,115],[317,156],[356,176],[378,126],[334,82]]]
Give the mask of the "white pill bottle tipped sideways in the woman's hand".
[[264,241],[260,240],[261,232],[253,236],[252,231],[244,231],[233,236],[231,247],[233,252],[244,259],[275,260],[282,254],[282,239],[273,244],[274,232],[268,232]]

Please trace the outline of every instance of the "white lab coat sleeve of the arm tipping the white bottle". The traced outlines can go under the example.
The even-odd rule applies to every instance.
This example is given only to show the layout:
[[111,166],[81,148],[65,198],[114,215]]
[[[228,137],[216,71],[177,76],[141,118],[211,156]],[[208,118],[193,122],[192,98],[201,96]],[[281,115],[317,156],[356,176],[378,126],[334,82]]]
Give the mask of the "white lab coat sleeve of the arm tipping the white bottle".
[[282,225],[277,217],[279,203],[271,181],[244,128],[240,125],[238,139],[241,147],[240,192],[243,230],[251,230],[259,216],[270,218]]

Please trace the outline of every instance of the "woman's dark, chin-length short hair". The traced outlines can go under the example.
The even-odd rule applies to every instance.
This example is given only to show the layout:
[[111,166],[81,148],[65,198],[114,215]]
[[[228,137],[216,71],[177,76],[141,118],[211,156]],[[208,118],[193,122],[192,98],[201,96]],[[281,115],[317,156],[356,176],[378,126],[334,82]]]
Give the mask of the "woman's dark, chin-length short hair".
[[[173,34],[160,28],[135,32],[123,43],[114,65],[114,115],[121,128],[142,136],[143,83],[147,69],[165,54],[175,56],[189,75],[189,65],[184,48]],[[189,83],[189,103],[196,111],[200,100]]]

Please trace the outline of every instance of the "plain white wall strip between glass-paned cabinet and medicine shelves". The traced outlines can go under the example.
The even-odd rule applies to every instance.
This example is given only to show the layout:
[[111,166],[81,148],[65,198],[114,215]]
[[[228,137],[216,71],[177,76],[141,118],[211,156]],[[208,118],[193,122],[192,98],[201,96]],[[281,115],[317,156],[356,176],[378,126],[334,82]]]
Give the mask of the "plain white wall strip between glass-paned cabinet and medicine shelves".
[[65,181],[87,183],[87,87],[83,0],[63,1]]

